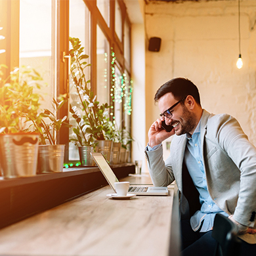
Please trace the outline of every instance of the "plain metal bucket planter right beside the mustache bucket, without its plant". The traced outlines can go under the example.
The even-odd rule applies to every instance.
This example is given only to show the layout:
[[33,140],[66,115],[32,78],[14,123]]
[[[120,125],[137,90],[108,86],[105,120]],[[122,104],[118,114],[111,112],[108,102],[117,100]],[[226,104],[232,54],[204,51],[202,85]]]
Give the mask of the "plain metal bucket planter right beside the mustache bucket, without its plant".
[[37,173],[63,171],[65,145],[39,145]]

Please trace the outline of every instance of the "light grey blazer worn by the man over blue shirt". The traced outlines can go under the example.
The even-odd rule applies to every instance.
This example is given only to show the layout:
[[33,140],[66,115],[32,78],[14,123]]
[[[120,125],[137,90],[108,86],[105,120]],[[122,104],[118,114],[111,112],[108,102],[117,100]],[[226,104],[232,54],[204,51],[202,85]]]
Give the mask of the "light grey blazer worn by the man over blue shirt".
[[[245,226],[256,228],[256,148],[238,121],[227,114],[213,115],[203,110],[200,127],[202,156],[207,187],[213,200],[228,215]],[[162,147],[146,151],[150,176],[155,186],[176,181],[181,217],[188,216],[188,202],[182,194],[182,163],[186,135],[173,136],[171,154],[163,161]],[[256,235],[240,238],[256,244]]]

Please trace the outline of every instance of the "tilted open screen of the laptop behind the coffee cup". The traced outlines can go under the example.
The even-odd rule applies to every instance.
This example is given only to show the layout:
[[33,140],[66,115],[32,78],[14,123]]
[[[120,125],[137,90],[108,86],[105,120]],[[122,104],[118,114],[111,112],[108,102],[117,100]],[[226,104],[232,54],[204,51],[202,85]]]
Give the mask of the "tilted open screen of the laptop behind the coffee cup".
[[110,186],[112,186],[114,191],[116,191],[115,182],[119,182],[119,181],[115,173],[110,168],[110,165],[108,164],[104,156],[102,156],[101,153],[91,153],[91,155],[93,156],[96,162],[96,165],[98,165],[98,168],[100,168],[100,171],[103,173],[104,177],[106,178]]

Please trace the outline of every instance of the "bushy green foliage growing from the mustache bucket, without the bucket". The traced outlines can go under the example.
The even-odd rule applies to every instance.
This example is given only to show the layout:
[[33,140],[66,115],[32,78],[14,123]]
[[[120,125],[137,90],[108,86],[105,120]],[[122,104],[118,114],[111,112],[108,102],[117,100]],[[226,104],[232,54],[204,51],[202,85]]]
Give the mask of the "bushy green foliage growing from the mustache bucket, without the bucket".
[[18,133],[32,131],[31,122],[37,119],[39,110],[38,93],[41,75],[29,67],[15,68],[11,74],[3,77],[0,65],[0,133]]

